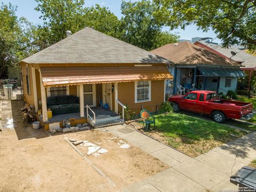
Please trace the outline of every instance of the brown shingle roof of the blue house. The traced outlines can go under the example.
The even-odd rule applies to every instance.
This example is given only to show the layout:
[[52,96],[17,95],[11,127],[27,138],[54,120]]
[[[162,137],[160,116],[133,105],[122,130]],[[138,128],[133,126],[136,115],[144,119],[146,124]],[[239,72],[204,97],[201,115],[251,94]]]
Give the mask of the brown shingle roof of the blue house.
[[190,42],[171,43],[151,51],[176,64],[241,66],[238,62],[223,58]]

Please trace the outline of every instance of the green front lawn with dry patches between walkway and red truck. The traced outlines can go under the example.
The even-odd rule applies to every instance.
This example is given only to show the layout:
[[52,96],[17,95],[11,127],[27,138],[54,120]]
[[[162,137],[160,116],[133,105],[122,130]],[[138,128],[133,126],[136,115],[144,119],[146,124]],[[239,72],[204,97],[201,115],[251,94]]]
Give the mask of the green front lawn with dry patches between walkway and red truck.
[[146,134],[194,157],[246,134],[225,124],[180,113],[155,117],[156,129],[151,128]]

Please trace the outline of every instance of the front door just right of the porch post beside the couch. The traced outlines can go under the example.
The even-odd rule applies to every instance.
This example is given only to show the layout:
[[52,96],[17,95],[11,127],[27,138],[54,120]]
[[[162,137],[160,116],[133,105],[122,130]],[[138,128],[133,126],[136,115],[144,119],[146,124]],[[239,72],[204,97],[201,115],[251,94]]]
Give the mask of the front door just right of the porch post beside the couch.
[[84,84],[84,106],[96,106],[95,84]]

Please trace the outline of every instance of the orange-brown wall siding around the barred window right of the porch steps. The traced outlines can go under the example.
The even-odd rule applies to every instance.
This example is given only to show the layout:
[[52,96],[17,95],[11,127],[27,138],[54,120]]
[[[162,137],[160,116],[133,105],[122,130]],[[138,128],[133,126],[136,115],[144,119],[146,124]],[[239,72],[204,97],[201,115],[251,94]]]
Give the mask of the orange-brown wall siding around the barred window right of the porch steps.
[[151,81],[151,101],[135,103],[134,82],[118,83],[118,100],[127,105],[131,112],[139,113],[142,109],[155,111],[164,101],[164,80]]

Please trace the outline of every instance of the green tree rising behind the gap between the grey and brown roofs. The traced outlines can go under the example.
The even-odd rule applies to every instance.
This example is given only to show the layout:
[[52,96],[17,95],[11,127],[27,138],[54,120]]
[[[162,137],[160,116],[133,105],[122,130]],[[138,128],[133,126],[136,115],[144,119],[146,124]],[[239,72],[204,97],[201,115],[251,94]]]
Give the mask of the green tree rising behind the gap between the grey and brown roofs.
[[134,3],[122,1],[122,40],[145,50],[177,42],[178,36],[162,32],[162,23],[157,22],[153,16],[156,8],[148,0]]

